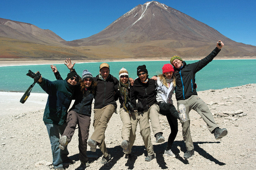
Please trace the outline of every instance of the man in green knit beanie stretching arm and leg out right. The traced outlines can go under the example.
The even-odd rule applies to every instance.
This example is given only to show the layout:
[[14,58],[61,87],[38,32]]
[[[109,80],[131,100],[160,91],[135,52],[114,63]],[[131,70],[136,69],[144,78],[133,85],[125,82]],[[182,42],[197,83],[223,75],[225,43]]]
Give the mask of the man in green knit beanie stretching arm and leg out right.
[[[221,43],[221,45],[218,43]],[[194,145],[189,129],[189,111],[191,109],[200,114],[207,124],[208,130],[214,134],[215,139],[221,139],[228,134],[227,129],[220,129],[219,125],[216,124],[208,106],[197,96],[194,86],[196,72],[210,63],[223,46],[223,42],[218,41],[212,53],[196,63],[186,64],[178,55],[173,55],[170,60],[171,64],[174,66],[173,74],[176,77],[175,97],[182,125],[182,136],[188,150],[184,153],[184,158],[190,158],[194,155]]]

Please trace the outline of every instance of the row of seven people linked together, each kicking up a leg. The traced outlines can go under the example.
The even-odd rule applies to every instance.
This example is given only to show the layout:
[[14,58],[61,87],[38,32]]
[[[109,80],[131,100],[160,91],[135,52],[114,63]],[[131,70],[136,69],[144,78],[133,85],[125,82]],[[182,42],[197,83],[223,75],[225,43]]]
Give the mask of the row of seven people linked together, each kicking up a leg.
[[[177,157],[177,154],[173,153],[171,149],[178,133],[178,120],[182,125],[182,136],[187,148],[184,158],[190,158],[194,155],[194,146],[189,129],[189,111],[191,109],[200,114],[216,139],[227,135],[227,129],[219,128],[207,105],[197,96],[195,84],[196,72],[210,63],[223,47],[224,44],[221,41],[218,42],[221,45],[217,43],[216,48],[208,56],[196,63],[186,64],[180,56],[173,55],[170,59],[171,64],[167,63],[162,67],[163,74],[152,78],[148,78],[146,65],[140,65],[137,67],[138,78],[135,80],[129,77],[128,71],[124,67],[119,71],[119,78],[117,79],[110,74],[107,63],[100,64],[100,74],[96,77],[93,77],[88,70],[84,70],[80,77],[74,69],[75,63],[72,64],[71,60],[67,59],[65,60],[66,66],[70,72],[67,78],[63,80],[56,66],[51,65],[57,80],[50,81],[41,77],[38,84],[49,94],[43,121],[52,146],[54,168],[64,169],[64,167],[74,163],[68,158],[67,145],[71,141],[77,125],[79,159],[81,161],[79,169],[85,169],[89,166],[86,156],[87,144],[92,152],[96,151],[97,146],[100,148],[103,154],[102,164],[111,160],[111,155],[105,144],[105,130],[111,116],[116,111],[116,100],[120,102],[120,118],[123,122],[121,147],[125,153],[125,158],[128,159],[134,159],[131,152],[138,123],[140,134],[148,152],[145,161],[151,161],[155,158],[150,137],[149,119],[156,143],[162,143],[165,139],[159,114],[166,116],[171,128],[164,154],[173,158]],[[174,91],[178,111],[172,102]],[[88,139],[93,99],[94,132]],[[75,102],[68,111],[72,100]]]

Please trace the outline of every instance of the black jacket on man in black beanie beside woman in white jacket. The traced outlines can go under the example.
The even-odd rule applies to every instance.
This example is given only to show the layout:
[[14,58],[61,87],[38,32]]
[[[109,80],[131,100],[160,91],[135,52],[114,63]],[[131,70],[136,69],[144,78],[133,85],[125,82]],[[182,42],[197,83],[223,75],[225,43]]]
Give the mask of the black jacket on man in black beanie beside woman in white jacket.
[[134,96],[140,101],[143,110],[138,110],[139,112],[147,111],[150,106],[156,104],[156,82],[148,78],[147,83],[142,83],[140,78],[136,78],[133,84]]

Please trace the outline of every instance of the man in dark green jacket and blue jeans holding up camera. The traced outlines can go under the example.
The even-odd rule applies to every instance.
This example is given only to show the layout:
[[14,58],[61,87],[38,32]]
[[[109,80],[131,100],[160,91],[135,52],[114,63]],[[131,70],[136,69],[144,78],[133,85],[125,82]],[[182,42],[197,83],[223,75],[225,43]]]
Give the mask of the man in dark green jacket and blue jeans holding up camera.
[[79,76],[74,73],[68,73],[65,80],[50,81],[45,78],[38,80],[40,87],[49,94],[44,109],[43,121],[47,128],[48,135],[52,146],[52,164],[55,169],[64,169],[73,160],[68,158],[67,147],[64,150],[59,148],[60,135],[63,134],[67,127],[67,110],[74,97],[74,90]]

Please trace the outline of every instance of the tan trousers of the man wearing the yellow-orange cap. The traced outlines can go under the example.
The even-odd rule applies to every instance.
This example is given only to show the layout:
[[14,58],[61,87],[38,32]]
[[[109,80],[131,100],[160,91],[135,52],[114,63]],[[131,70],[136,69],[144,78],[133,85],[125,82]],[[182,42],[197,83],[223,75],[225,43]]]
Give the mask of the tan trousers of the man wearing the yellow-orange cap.
[[92,133],[91,139],[99,143],[100,151],[104,157],[108,156],[108,150],[105,144],[105,131],[108,127],[108,121],[115,112],[114,105],[107,105],[101,109],[94,109],[93,127],[94,132]]

